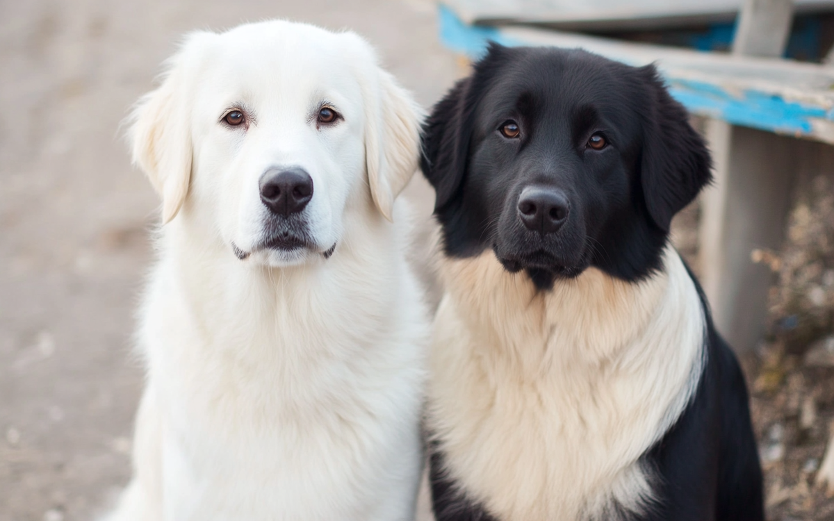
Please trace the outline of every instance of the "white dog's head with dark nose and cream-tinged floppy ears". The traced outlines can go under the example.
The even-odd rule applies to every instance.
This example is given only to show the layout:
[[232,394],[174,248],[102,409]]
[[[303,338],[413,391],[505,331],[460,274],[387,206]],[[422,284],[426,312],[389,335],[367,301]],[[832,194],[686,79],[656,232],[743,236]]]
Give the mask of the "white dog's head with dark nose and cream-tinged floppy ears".
[[179,213],[242,260],[287,266],[329,257],[346,213],[391,219],[420,109],[354,33],[273,21],[189,35],[131,130],[163,223]]

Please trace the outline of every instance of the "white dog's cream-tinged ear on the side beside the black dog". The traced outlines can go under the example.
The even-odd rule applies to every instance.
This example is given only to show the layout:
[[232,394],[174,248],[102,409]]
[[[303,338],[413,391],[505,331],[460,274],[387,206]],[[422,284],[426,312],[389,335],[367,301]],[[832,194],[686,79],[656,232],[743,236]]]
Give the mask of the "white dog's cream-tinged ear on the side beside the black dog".
[[374,204],[392,221],[394,199],[417,170],[423,111],[394,77],[382,70],[376,92],[366,100],[365,163]]

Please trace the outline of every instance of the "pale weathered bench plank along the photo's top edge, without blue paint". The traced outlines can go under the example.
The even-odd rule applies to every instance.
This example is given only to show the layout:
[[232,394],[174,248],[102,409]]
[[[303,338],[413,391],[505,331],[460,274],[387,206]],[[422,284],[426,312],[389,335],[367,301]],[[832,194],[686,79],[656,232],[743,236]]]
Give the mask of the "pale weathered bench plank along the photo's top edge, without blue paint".
[[[468,24],[539,23],[561,30],[671,28],[728,22],[743,0],[444,0]],[[834,10],[831,0],[796,0],[796,13]]]

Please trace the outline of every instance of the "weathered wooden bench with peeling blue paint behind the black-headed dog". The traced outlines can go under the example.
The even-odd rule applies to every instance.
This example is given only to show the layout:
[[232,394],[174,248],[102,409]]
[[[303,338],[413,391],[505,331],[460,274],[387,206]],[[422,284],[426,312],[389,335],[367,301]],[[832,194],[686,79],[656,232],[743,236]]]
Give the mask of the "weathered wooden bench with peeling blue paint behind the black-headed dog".
[[[454,8],[440,5],[441,39],[470,58],[479,57],[492,40],[510,46],[585,48],[637,66],[656,63],[672,95],[691,113],[708,118],[716,183],[701,198],[701,282],[717,327],[739,351],[754,348],[765,333],[773,282],[770,268],[753,263],[751,253],[781,247],[797,175],[834,168],[834,67],[768,58],[781,56],[793,6],[789,0],[745,2],[743,8],[741,2],[736,5],[742,9],[733,52],[725,54],[477,23],[592,28],[594,23],[610,27],[628,20],[656,26],[686,17],[726,16],[732,0],[684,2],[675,8],[666,0],[646,0],[642,11],[632,7],[631,12],[617,8],[621,4],[614,0],[572,11],[565,5],[549,8],[554,4],[549,0],[517,0],[510,3],[515,11],[497,1],[450,0]],[[521,4],[529,8],[520,9]],[[796,9],[820,4],[798,0]]]

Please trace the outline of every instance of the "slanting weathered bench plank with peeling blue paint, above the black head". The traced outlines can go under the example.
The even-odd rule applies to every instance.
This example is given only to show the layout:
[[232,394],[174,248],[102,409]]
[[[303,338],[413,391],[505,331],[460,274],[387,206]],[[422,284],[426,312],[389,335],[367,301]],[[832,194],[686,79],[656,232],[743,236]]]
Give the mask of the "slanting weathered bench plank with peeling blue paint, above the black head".
[[440,7],[440,36],[477,58],[487,42],[584,48],[631,65],[656,63],[691,113],[834,144],[834,68],[770,58],[698,53],[534,28],[467,25]]

